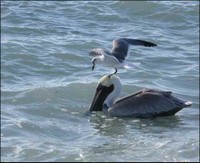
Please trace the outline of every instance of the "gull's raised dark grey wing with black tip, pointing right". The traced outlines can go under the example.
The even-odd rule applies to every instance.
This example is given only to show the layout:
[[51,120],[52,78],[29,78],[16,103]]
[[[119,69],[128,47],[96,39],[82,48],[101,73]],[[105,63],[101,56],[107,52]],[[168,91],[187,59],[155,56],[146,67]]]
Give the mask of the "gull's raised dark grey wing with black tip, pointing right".
[[141,45],[146,47],[157,46],[156,44],[148,41],[129,39],[129,38],[119,38],[113,40],[113,48],[111,50],[111,53],[119,61],[122,62],[127,57],[129,45]]

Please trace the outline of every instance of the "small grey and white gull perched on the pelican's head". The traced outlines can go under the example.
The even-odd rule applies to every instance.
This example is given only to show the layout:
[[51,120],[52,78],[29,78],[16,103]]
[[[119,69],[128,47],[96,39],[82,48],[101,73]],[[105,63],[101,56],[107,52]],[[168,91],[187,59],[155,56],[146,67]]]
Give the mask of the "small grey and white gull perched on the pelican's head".
[[145,47],[154,47],[156,44],[144,40],[130,39],[130,38],[118,38],[112,42],[112,50],[102,48],[95,48],[89,52],[92,58],[92,70],[94,70],[96,63],[103,63],[105,66],[112,67],[117,72],[118,68],[128,68],[125,64],[125,58],[128,55],[129,45],[141,45]]

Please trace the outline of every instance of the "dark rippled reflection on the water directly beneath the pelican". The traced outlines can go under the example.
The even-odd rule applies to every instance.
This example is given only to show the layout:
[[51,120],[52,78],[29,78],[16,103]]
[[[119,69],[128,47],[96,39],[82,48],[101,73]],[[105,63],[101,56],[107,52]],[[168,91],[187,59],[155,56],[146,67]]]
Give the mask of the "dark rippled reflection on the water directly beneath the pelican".
[[164,134],[181,125],[178,116],[157,117],[154,119],[136,119],[106,117],[102,112],[94,112],[90,117],[91,126],[104,136],[118,137],[125,135],[130,130],[141,133]]

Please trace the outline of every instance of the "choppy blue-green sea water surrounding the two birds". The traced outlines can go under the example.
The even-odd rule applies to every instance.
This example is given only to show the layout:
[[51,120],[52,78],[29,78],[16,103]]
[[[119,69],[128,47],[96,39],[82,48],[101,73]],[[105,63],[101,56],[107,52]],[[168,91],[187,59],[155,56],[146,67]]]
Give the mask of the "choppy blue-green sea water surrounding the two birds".
[[[129,37],[120,96],[142,88],[193,101],[175,116],[87,114],[112,69],[91,70],[93,48]],[[1,1],[1,161],[199,161],[198,1]]]

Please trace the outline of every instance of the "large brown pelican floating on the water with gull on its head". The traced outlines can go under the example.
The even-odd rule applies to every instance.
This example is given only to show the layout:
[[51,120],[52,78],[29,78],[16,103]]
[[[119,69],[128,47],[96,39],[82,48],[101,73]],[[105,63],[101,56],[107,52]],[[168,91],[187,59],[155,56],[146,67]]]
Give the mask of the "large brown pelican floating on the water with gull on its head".
[[192,105],[172,95],[171,91],[144,88],[116,100],[121,92],[116,74],[103,76],[97,85],[89,112],[103,111],[109,117],[155,118],[175,115]]

